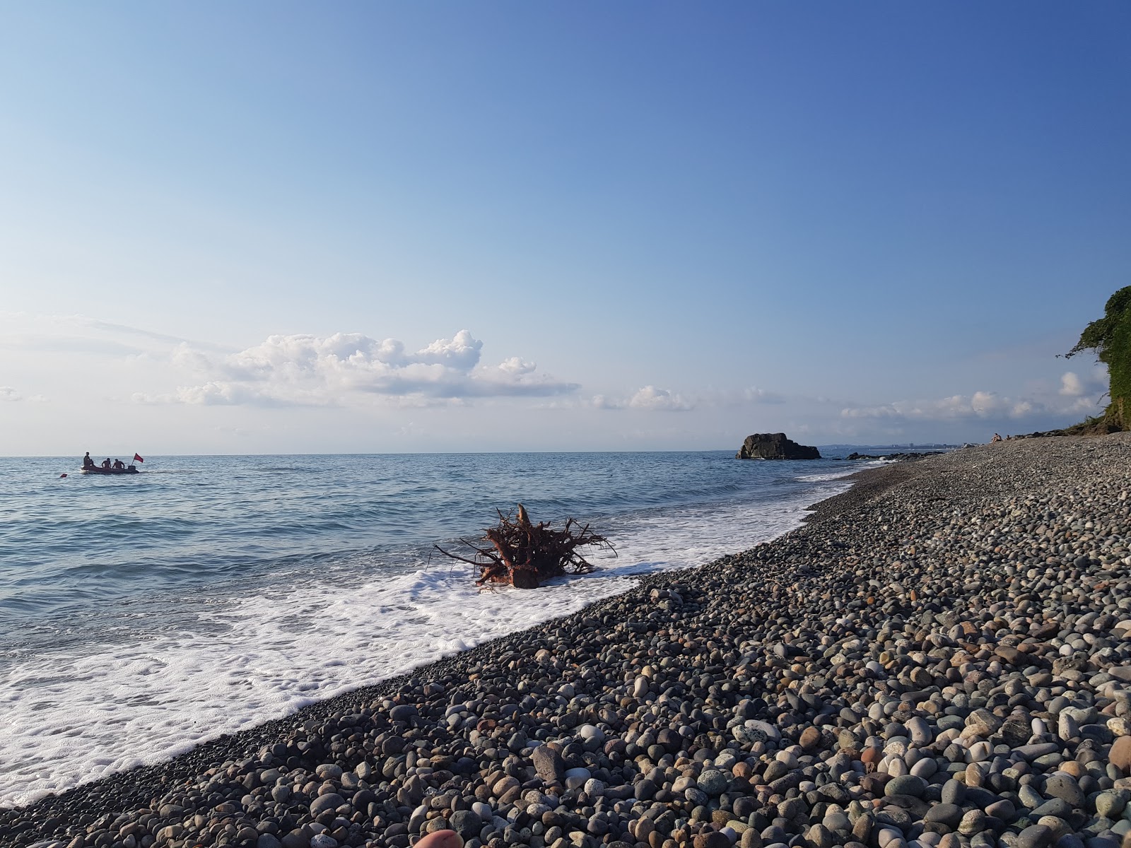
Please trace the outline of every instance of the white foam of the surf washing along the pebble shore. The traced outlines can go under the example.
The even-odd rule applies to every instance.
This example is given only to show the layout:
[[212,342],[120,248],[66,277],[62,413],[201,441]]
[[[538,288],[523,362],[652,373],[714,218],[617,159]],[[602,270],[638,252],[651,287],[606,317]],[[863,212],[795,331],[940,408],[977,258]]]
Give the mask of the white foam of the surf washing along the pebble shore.
[[480,591],[468,566],[442,559],[385,576],[356,563],[198,604],[189,630],[143,630],[103,652],[55,650],[17,661],[0,689],[0,806],[167,760],[567,615],[630,588],[633,574],[699,565],[766,542],[848,486],[813,479],[823,485],[803,500],[753,513],[735,504],[618,519],[602,528],[619,543],[618,557],[594,557],[596,573],[541,589]]

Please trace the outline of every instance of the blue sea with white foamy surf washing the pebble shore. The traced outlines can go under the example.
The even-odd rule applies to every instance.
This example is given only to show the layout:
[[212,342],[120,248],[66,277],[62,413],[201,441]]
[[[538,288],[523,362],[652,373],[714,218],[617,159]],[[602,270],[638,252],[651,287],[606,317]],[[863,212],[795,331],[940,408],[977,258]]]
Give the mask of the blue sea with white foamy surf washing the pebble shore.
[[[841,451],[841,455],[844,451]],[[732,451],[0,459],[0,806],[171,759],[797,527],[862,464]],[[66,476],[63,476],[66,475]],[[615,546],[538,589],[458,552],[525,504]]]

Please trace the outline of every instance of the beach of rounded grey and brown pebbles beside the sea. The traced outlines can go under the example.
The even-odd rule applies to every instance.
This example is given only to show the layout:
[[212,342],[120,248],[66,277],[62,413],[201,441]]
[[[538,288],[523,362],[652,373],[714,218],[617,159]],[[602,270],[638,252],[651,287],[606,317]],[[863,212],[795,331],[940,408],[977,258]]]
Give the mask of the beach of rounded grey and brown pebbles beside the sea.
[[774,542],[0,811],[0,845],[1119,848],[1129,589],[1131,434],[893,464]]

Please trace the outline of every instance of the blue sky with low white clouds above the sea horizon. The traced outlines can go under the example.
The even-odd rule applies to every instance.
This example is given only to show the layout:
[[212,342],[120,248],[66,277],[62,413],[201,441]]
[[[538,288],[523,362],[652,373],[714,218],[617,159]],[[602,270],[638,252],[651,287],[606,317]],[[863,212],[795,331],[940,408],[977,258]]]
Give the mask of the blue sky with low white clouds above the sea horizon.
[[1102,410],[1125,2],[0,0],[0,453]]

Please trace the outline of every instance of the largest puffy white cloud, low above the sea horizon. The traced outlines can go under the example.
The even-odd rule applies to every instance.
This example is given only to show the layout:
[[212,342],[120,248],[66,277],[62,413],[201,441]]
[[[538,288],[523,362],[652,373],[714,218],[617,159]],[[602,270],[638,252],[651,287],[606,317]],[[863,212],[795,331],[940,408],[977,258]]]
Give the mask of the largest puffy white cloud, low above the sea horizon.
[[537,372],[537,365],[512,356],[498,365],[481,364],[483,343],[467,330],[408,352],[396,339],[359,332],[269,336],[226,356],[178,347],[173,361],[200,379],[166,396],[136,396],[140,401],[201,405],[327,406],[348,398],[379,396],[413,405],[467,398],[549,397],[575,391],[576,383]]

